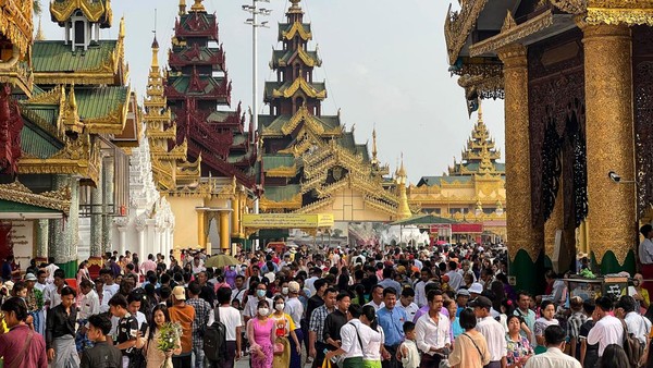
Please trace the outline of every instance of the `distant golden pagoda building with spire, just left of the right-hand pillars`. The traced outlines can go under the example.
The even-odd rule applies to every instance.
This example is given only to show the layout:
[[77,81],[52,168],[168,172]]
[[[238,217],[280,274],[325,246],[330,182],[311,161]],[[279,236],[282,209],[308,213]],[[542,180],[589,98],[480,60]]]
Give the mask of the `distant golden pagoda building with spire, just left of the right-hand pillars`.
[[417,185],[410,185],[408,201],[423,212],[478,225],[473,232],[470,226],[460,232],[453,229],[453,238],[447,241],[505,240],[505,165],[497,162],[500,159],[501,151],[490,136],[479,108],[461,160],[454,158],[454,164],[442,176],[422,176]]

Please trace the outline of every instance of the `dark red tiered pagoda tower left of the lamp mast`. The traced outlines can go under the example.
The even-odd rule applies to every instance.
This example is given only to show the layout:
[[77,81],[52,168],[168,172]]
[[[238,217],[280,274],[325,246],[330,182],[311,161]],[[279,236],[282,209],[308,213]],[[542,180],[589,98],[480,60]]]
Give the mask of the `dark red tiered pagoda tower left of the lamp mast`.
[[164,95],[176,124],[176,146],[187,147],[188,161],[201,157],[202,176],[235,176],[252,188],[254,132],[245,131],[241,103],[236,110],[226,109],[232,86],[224,50],[215,14],[208,14],[201,0],[189,12],[185,1],[180,2],[168,65]]

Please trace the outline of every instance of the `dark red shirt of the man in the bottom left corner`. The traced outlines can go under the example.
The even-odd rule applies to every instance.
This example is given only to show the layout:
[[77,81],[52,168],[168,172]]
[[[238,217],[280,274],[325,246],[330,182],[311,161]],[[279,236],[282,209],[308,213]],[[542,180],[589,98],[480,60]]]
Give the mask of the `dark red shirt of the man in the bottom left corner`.
[[[26,324],[15,326],[5,334],[0,334],[0,356],[4,357],[4,366],[11,365],[19,354],[29,335],[29,327]],[[25,349],[25,357],[21,368],[48,368],[48,357],[46,356],[46,341],[44,336],[34,332],[29,347]]]

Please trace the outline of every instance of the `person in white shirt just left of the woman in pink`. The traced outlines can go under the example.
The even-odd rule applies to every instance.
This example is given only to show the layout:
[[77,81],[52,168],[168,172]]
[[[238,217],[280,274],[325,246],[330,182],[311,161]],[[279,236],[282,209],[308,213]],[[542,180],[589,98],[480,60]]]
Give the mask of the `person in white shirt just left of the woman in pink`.
[[[243,320],[238,309],[231,306],[231,290],[229,287],[218,289],[218,314],[220,321],[226,328],[226,359],[220,367],[233,368],[234,361],[241,358],[241,344],[243,335]],[[219,367],[209,361],[209,367]]]

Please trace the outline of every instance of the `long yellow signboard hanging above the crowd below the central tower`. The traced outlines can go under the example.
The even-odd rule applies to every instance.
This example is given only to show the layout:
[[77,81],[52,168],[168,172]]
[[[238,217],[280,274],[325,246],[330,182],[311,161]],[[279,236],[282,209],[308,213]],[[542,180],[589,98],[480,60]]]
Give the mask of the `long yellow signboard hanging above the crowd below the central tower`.
[[246,213],[243,214],[243,228],[249,229],[317,229],[332,228],[332,213]]

